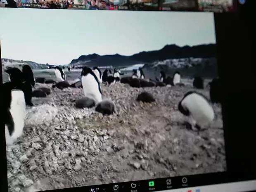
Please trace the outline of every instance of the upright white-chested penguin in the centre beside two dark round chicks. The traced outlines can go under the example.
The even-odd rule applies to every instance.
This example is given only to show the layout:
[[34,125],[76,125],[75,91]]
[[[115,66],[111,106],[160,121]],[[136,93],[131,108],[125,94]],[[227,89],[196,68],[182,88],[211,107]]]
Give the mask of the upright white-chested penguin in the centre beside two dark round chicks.
[[81,72],[81,81],[83,85],[83,93],[85,97],[95,100],[95,103],[102,101],[102,91],[97,76],[89,67],[83,67]]

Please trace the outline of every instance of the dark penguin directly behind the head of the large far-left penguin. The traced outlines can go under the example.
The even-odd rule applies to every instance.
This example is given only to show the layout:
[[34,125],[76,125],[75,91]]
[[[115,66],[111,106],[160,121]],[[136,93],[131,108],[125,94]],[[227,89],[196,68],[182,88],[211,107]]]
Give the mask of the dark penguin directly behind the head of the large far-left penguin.
[[18,68],[9,68],[5,72],[9,74],[9,79],[12,82],[14,88],[18,88],[23,91],[26,105],[33,106],[32,99],[32,85],[31,82],[24,77],[24,74]]

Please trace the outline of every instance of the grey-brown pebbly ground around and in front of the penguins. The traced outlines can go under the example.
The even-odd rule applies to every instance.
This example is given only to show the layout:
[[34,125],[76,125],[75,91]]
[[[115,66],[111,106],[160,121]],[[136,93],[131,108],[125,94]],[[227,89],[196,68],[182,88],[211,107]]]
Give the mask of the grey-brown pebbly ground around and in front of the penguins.
[[[143,90],[156,102],[137,102]],[[220,105],[213,106],[216,119],[211,125],[200,132],[189,130],[177,105],[190,90],[188,85],[102,85],[103,97],[116,105],[110,116],[93,108],[76,109],[75,100],[83,96],[80,88],[54,89],[47,98],[33,98],[24,135],[7,146],[9,191],[225,171]],[[209,95],[208,89],[198,91]]]

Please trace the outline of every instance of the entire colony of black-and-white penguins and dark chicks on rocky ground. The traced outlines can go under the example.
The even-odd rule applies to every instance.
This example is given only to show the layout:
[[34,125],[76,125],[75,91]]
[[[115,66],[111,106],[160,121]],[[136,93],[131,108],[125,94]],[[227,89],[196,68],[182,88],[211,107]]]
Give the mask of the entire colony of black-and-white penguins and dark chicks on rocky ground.
[[[68,68],[70,71],[70,68]],[[63,68],[55,67],[55,76],[57,81],[45,79],[42,77],[34,78],[33,71],[30,66],[24,65],[22,71],[18,68],[9,68],[5,70],[9,74],[9,82],[3,83],[4,95],[4,119],[5,119],[5,135],[7,145],[11,145],[18,137],[21,136],[24,128],[26,117],[26,106],[33,106],[32,97],[47,97],[51,94],[51,90],[45,87],[35,89],[36,83],[52,83],[52,89],[59,88],[82,88],[83,97],[76,101],[77,108],[95,107],[95,111],[103,115],[110,115],[115,112],[114,103],[102,99],[101,83],[104,85],[113,85],[116,82],[129,84],[131,87],[144,88],[156,86],[184,86],[181,83],[181,75],[175,71],[173,76],[167,76],[164,71],[160,72],[160,79],[146,79],[142,68],[133,70],[132,76],[123,77],[120,70],[114,69],[114,73],[110,69],[104,70],[102,73],[98,67],[83,67],[81,76],[75,82],[66,81],[66,75]],[[204,81],[201,77],[195,77],[193,81],[194,88],[204,89]],[[183,99],[177,104],[181,114],[188,117],[192,130],[200,130],[202,126],[211,123],[215,114],[211,103],[220,103],[220,82],[218,78],[214,78],[210,86],[210,101],[202,94],[196,91],[187,92]],[[138,95],[137,101],[155,102],[154,96],[148,92],[142,92]]]

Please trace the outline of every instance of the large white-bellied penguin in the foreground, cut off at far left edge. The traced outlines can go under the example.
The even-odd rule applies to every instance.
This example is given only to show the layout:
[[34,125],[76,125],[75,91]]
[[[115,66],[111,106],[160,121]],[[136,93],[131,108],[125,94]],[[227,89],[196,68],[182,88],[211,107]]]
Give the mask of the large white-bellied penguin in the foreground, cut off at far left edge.
[[24,92],[13,82],[3,83],[6,145],[12,145],[22,135],[26,118]]

